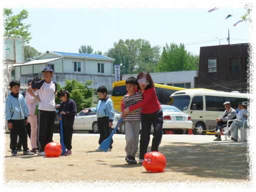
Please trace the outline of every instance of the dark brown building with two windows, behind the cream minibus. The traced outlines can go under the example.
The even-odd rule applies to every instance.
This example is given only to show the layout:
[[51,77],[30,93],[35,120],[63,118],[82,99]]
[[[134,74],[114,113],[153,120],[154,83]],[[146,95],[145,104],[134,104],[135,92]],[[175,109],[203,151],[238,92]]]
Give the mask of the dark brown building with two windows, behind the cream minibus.
[[197,87],[246,92],[248,43],[202,46]]

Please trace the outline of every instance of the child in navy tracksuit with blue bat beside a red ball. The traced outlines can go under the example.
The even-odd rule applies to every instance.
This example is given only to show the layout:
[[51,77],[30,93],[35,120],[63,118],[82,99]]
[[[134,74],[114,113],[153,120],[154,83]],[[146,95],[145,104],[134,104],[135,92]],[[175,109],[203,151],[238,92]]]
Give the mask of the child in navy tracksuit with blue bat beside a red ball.
[[63,141],[67,149],[64,155],[70,155],[72,154],[71,141],[73,134],[74,116],[76,113],[76,104],[71,98],[69,98],[69,92],[64,89],[60,89],[57,92],[57,97],[62,100],[60,105],[56,105],[56,108],[58,108],[57,115],[59,120],[61,120],[59,114],[62,115]]

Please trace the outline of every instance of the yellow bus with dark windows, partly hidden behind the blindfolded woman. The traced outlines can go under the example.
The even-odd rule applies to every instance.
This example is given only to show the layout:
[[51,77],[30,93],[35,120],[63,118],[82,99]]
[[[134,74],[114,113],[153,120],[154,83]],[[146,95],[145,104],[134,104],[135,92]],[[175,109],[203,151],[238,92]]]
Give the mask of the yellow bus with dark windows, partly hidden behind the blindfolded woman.
[[[121,111],[122,97],[127,94],[125,80],[115,81],[112,84],[113,90],[111,100],[113,101],[114,109]],[[178,90],[185,90],[186,88],[180,88],[175,86],[168,86],[163,84],[154,83],[155,92],[160,104],[169,104],[171,99],[170,95]]]

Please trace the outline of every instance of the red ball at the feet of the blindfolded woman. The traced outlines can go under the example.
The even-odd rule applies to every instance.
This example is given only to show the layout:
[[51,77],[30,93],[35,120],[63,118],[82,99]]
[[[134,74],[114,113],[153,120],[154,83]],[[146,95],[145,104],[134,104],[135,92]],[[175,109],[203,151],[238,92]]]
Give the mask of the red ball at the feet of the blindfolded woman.
[[143,167],[151,172],[163,172],[166,159],[162,153],[157,151],[148,152],[144,155]]

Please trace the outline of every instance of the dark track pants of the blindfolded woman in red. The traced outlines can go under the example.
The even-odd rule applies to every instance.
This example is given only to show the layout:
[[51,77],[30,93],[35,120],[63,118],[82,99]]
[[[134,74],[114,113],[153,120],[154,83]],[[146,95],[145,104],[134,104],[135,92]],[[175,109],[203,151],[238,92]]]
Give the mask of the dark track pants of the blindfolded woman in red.
[[149,114],[140,113],[140,122],[141,134],[139,139],[139,158],[144,159],[144,154],[147,151],[147,146],[150,140],[151,124],[154,127],[151,151],[158,151],[158,146],[161,143],[163,123],[162,109],[160,108]]

